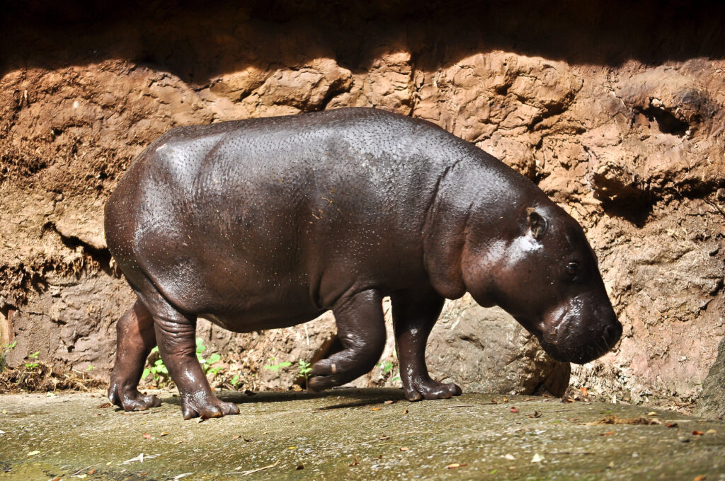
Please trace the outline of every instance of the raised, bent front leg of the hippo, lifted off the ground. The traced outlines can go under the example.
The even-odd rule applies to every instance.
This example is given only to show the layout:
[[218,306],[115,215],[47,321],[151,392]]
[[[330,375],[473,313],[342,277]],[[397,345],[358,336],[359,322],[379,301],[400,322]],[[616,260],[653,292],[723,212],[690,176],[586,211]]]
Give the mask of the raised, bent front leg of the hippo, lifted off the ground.
[[312,367],[310,390],[339,386],[375,367],[385,347],[382,297],[376,290],[349,296],[333,309],[342,350]]

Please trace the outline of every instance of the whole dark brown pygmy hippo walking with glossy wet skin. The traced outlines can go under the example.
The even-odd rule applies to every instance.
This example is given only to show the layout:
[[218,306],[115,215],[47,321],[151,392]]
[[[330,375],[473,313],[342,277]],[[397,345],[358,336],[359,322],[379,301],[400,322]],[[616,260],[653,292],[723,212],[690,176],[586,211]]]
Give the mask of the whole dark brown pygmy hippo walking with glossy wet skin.
[[423,120],[375,109],[178,127],[128,168],[106,238],[138,301],[118,322],[109,398],[138,393],[149,351],[183,417],[237,414],[195,356],[196,318],[235,332],[332,309],[343,349],[315,363],[322,390],[370,371],[390,296],[410,401],[461,390],[431,380],[428,333],[445,298],[498,304],[555,359],[584,363],[621,325],[581,227],[536,185]]

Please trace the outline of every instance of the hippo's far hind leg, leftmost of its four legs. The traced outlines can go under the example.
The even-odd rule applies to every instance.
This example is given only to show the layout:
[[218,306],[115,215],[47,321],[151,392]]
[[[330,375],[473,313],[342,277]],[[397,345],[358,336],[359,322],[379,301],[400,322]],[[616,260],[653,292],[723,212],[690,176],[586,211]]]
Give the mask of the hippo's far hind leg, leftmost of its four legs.
[[116,361],[108,388],[108,398],[124,411],[143,411],[159,406],[156,396],[138,392],[138,381],[144,372],[149,352],[156,346],[151,313],[136,301],[116,324]]

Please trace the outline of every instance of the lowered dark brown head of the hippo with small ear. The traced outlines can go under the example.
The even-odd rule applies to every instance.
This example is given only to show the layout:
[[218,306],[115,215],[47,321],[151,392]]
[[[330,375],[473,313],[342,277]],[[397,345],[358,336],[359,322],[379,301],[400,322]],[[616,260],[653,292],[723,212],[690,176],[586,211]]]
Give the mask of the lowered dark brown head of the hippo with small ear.
[[508,311],[554,359],[597,359],[619,340],[622,325],[584,231],[553,204],[517,216],[493,240],[469,230],[461,265],[466,289],[479,304]]

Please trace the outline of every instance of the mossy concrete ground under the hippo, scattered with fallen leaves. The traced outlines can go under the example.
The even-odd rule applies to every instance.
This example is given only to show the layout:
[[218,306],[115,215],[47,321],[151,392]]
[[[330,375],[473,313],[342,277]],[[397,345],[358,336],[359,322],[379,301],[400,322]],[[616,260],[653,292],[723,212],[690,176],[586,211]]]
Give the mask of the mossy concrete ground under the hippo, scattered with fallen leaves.
[[225,392],[241,413],[197,422],[157,394],[136,413],[101,391],[0,396],[0,481],[725,480],[725,422],[671,411],[336,389]]

